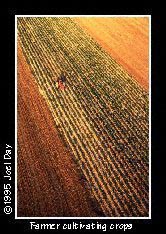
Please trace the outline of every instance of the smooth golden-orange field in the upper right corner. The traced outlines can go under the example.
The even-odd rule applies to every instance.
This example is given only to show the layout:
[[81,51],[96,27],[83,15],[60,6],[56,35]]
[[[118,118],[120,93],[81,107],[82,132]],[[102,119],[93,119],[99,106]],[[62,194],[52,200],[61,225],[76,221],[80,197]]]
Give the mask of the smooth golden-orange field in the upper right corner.
[[148,91],[149,19],[73,18]]

